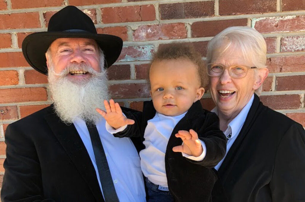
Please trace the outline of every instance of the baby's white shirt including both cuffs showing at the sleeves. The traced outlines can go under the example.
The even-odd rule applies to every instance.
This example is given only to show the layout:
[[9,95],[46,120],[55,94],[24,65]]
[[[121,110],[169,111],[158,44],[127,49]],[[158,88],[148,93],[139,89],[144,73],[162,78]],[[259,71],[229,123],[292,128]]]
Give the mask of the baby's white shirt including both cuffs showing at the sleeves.
[[[156,185],[168,187],[165,172],[166,147],[174,127],[186,113],[178,116],[165,116],[156,112],[156,115],[147,121],[144,132],[145,141],[143,141],[145,149],[140,152],[141,169],[144,176]],[[123,131],[126,127],[127,125],[114,130],[106,123],[106,129],[112,134]],[[206,155],[206,146],[203,141],[201,141],[201,145],[203,153],[200,156],[195,157],[185,153],[182,153],[182,156],[192,160],[203,160]]]

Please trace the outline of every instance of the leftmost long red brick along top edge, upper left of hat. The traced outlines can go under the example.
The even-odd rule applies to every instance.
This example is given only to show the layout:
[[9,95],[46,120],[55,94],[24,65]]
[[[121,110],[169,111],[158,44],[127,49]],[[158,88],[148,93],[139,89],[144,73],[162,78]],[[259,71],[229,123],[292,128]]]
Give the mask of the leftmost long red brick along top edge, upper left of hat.
[[26,9],[26,8],[39,8],[39,7],[49,7],[49,6],[64,6],[65,2],[63,0],[11,0],[12,9]]

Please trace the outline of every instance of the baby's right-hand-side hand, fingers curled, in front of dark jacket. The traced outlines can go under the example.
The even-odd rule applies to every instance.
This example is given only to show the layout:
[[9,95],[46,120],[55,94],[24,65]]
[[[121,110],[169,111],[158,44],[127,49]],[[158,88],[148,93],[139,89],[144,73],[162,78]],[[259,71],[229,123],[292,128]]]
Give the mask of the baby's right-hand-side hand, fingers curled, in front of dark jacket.
[[198,139],[198,134],[194,130],[191,129],[189,132],[186,130],[179,130],[175,136],[182,139],[183,145],[173,147],[174,152],[183,152],[195,157],[202,154],[203,148]]

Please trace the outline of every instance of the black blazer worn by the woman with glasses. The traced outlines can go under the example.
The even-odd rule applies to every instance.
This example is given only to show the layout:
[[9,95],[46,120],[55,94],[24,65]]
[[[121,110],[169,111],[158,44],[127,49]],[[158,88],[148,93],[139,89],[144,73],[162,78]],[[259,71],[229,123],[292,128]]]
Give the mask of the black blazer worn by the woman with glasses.
[[218,174],[232,202],[305,201],[303,127],[255,94]]

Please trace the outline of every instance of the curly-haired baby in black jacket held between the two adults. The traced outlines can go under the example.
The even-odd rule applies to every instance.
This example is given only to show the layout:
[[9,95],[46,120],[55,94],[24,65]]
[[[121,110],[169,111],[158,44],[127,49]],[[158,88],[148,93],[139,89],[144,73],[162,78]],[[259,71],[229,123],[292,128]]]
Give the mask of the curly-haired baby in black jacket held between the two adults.
[[152,101],[144,102],[143,112],[123,113],[113,100],[104,101],[106,112],[97,109],[116,137],[143,139],[139,155],[148,201],[211,201],[217,180],[212,167],[224,157],[227,139],[216,114],[199,101],[204,68],[192,46],[164,46],[150,66]]

